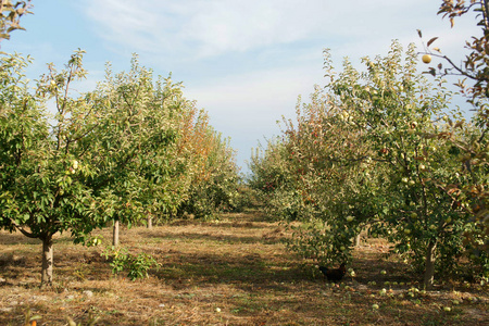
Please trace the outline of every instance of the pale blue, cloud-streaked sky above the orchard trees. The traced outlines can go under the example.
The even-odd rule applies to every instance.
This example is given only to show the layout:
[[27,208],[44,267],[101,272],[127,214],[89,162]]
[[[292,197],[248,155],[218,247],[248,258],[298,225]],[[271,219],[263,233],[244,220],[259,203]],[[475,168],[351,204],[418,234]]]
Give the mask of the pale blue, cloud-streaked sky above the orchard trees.
[[155,75],[184,82],[184,93],[209,112],[211,124],[231,138],[238,164],[251,148],[279,133],[276,122],[293,117],[298,96],[308,99],[323,83],[323,49],[335,65],[343,57],[386,54],[392,39],[422,47],[439,36],[443,53],[460,60],[464,40],[479,32],[473,17],[451,29],[437,15],[439,0],[33,0],[34,15],[2,41],[1,50],[30,54],[30,78],[46,63],[62,66],[87,51],[87,80],[103,78],[105,62],[129,68],[133,53]]

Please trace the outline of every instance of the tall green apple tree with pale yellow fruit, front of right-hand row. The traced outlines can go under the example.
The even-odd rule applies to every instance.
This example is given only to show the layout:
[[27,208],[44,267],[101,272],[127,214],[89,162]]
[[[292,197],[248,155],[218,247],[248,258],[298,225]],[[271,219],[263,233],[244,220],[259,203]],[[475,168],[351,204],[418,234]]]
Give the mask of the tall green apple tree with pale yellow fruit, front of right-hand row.
[[[431,85],[416,72],[414,47],[402,58],[394,42],[386,58],[365,58],[364,73],[352,73],[351,66],[338,75],[331,71],[328,89],[353,117],[353,130],[372,146],[371,159],[384,165],[380,191],[366,197],[379,208],[369,230],[397,243],[397,253],[410,253],[405,258],[424,271],[430,287],[436,263],[439,272],[455,265],[464,252],[460,239],[473,227],[463,208],[439,187],[456,183],[452,172],[462,168],[457,154],[440,139],[450,122],[462,116],[449,110],[444,80]],[[453,137],[464,139],[465,134]]]

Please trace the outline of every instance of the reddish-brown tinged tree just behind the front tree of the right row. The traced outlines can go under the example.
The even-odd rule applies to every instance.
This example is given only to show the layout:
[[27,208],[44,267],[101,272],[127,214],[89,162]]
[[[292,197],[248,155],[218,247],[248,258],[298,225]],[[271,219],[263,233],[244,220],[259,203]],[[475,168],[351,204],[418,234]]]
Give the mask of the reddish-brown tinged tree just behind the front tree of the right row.
[[[375,191],[375,174],[380,170],[373,170],[372,175],[365,172],[361,162],[372,161],[371,146],[361,139],[362,133],[352,131],[352,124],[335,97],[318,87],[310,103],[298,105],[296,122],[285,121],[285,147],[300,189],[302,221],[292,224],[288,244],[304,258],[326,265],[351,259],[349,248],[376,209],[362,196],[365,189],[371,195]],[[353,217],[349,211],[355,205],[362,215]]]

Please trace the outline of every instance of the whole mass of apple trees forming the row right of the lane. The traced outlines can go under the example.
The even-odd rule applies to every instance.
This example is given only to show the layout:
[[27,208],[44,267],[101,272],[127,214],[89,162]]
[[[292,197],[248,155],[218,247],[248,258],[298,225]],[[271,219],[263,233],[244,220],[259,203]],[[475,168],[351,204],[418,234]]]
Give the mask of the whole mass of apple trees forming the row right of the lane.
[[474,126],[453,128],[451,121],[462,116],[448,111],[444,80],[431,85],[416,72],[413,46],[403,55],[394,42],[387,57],[363,59],[365,72],[346,60],[337,73],[325,54],[329,84],[316,88],[311,103],[298,106],[297,123],[286,121],[280,141],[254,159],[252,185],[268,206],[280,203],[278,215],[303,222],[289,246],[304,256],[329,265],[347,261],[366,228],[426,271],[429,286],[435,267],[453,267],[471,248],[460,239],[475,224],[443,190],[463,178],[460,152],[443,135],[463,141]]

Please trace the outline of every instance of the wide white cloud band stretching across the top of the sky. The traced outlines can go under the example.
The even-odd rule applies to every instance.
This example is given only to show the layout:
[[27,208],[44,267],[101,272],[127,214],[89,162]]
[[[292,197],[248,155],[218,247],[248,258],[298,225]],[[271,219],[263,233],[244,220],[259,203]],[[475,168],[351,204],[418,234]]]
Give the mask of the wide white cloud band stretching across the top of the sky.
[[[413,9],[425,2],[87,0],[85,11],[112,45],[192,60],[308,39],[378,38],[413,18],[423,23],[427,15]],[[432,18],[437,5],[429,5]]]

